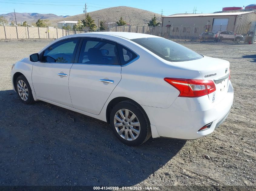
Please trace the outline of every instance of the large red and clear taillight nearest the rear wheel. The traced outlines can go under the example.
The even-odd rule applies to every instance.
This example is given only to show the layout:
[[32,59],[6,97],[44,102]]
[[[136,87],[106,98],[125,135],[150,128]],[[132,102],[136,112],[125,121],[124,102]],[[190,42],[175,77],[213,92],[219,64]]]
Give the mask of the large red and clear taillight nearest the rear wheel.
[[180,91],[179,97],[200,97],[216,90],[211,80],[195,80],[183,78],[164,78],[166,82]]

